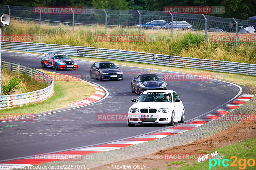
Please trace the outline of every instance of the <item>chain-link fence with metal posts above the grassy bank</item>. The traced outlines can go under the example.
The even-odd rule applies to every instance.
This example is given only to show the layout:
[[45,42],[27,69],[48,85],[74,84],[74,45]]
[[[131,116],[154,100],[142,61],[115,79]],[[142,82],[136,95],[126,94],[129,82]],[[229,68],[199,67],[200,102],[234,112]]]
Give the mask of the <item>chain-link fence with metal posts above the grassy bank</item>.
[[[101,31],[105,34],[111,30],[130,28],[131,32],[141,34],[141,30],[164,30],[165,34],[173,34],[174,30],[187,29],[205,32],[205,39],[209,35],[255,33],[256,20],[241,20],[234,18],[220,18],[204,14],[166,13],[163,11],[141,11],[141,10],[105,10],[82,7],[80,13],[69,10],[61,14],[51,14],[49,11],[41,12],[42,7],[20,7],[0,5],[1,15],[7,13],[12,19],[19,19],[20,25],[24,21],[33,21],[35,33],[40,35],[41,25],[53,27],[60,25],[63,28],[71,28],[69,31],[80,31],[81,26],[91,28],[93,31]],[[38,11],[35,12],[35,9]],[[72,9],[72,7],[69,7]],[[76,8],[76,7],[74,7]],[[72,12],[73,11],[73,12]],[[12,32],[12,22],[8,33]],[[159,32],[159,31],[158,31]],[[112,32],[111,32],[112,33]],[[157,36],[157,32],[154,32]]]

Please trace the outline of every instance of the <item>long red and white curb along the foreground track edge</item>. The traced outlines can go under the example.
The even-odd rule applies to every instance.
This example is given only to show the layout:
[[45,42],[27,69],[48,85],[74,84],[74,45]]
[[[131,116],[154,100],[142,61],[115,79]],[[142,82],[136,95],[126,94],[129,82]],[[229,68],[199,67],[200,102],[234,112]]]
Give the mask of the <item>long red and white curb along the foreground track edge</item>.
[[[93,85],[95,86],[95,85]],[[98,88],[95,86],[94,88]],[[147,135],[142,135],[139,137],[135,138],[128,138],[116,142],[111,142],[107,144],[102,144],[102,145],[95,145],[95,146],[90,146],[90,147],[84,147],[80,149],[75,149],[71,151],[64,151],[64,152],[57,152],[57,153],[51,153],[47,155],[89,155],[97,152],[107,152],[111,150],[116,150],[120,148],[124,148],[127,146],[132,146],[132,145],[138,145],[142,144],[148,141],[152,140],[157,140],[159,138],[165,138],[168,136],[173,136],[179,133],[183,133],[185,131],[188,131],[190,129],[193,129],[195,127],[201,126],[203,124],[207,124],[208,122],[211,122],[215,119],[218,119],[219,117],[222,117],[224,115],[227,115],[229,112],[232,110],[235,110],[237,107],[241,106],[242,104],[246,103],[250,99],[252,99],[254,95],[241,95],[240,97],[236,98],[232,102],[228,103],[224,107],[209,113],[207,115],[204,115],[203,117],[197,118],[193,121],[186,122],[184,124],[180,124],[162,131],[157,131],[154,133],[150,133]],[[90,101],[90,100],[89,100]],[[84,103],[84,102],[83,102]],[[72,156],[71,156],[72,157]],[[34,159],[33,157],[31,158],[26,158],[26,159],[16,159],[16,160],[10,160],[10,161],[5,161],[0,163],[0,168],[1,167],[6,167],[5,169],[12,169],[14,166],[33,166],[33,165],[39,165],[42,163],[48,163],[52,161],[59,161],[61,159]],[[4,168],[2,168],[4,169]]]

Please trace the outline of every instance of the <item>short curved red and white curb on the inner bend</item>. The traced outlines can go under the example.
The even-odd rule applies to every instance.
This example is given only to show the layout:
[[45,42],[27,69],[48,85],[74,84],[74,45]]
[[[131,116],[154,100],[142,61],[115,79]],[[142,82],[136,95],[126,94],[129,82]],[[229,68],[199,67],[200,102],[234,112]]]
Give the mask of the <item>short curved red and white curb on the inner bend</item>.
[[[81,80],[81,81],[84,81],[84,80]],[[88,97],[88,98],[86,98],[84,100],[72,103],[72,104],[70,104],[68,106],[71,106],[71,107],[84,106],[84,105],[96,102],[96,101],[102,99],[102,97],[105,96],[105,92],[99,86],[97,86],[96,84],[92,84],[92,83],[90,83],[88,81],[84,81],[84,82],[86,82],[86,83],[90,84],[91,86],[93,86],[94,89],[96,89],[96,92],[92,96],[90,96],[90,97]]]

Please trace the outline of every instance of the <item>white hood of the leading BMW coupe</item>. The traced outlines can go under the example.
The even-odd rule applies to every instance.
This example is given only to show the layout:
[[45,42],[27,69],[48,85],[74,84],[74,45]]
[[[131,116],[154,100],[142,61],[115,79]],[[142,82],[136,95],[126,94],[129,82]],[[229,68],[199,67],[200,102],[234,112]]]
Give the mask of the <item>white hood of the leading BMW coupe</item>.
[[161,108],[171,108],[173,104],[174,103],[172,102],[136,102],[131,106],[131,108],[161,109]]

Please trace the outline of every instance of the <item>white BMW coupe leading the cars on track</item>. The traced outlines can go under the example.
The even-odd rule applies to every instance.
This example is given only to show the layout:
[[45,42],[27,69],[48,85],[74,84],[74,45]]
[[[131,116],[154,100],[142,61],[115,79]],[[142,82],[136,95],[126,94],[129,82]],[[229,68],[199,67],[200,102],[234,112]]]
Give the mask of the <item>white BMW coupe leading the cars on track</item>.
[[128,112],[128,126],[135,124],[184,123],[185,109],[180,95],[173,90],[147,90],[141,93]]

